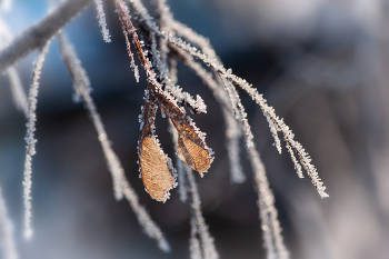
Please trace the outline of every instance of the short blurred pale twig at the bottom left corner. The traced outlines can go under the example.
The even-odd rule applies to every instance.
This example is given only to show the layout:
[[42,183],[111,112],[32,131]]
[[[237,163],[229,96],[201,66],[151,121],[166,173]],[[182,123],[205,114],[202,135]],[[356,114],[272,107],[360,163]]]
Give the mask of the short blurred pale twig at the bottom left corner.
[[3,259],[18,259],[18,252],[13,239],[13,227],[8,216],[6,200],[0,189],[0,239]]

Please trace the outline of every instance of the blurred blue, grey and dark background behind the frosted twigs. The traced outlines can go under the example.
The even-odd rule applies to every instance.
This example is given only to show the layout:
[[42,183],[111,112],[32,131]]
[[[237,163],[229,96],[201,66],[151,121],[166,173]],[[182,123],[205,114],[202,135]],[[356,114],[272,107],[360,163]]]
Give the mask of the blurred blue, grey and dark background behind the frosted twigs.
[[[152,1],[152,0],[151,0]],[[108,2],[108,1],[107,1]],[[148,2],[152,3],[152,2]],[[311,155],[330,198],[299,179],[278,155],[260,109],[241,92],[257,148],[276,196],[285,242],[293,259],[389,257],[389,2],[387,0],[168,0],[177,20],[208,37],[226,68],[251,82]],[[150,6],[150,4],[149,4]],[[13,36],[47,13],[44,0],[14,0],[1,13]],[[114,8],[106,4],[112,42],[102,40],[89,6],[64,29],[86,68],[98,110],[126,175],[170,241],[163,253],[142,233],[127,201],[113,197],[97,133],[52,42],[38,97],[32,161],[31,241],[22,237],[26,119],[0,77],[0,186],[20,258],[189,258],[189,203],[177,190],[166,203],[144,191],[137,165],[138,116],[146,74],[136,82]],[[37,52],[17,69],[28,90]],[[194,116],[216,159],[198,179],[202,210],[221,259],[266,258],[247,155],[242,185],[231,185],[221,109],[186,67],[179,84],[200,94]],[[173,158],[168,122],[157,133]],[[243,143],[241,143],[243,150]]]

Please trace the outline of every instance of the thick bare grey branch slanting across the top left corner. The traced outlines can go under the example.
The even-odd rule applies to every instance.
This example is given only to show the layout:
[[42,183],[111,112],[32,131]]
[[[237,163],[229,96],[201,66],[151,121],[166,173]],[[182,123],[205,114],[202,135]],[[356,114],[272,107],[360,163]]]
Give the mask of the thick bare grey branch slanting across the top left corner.
[[0,72],[31,51],[41,48],[58,30],[76,17],[91,0],[68,0],[42,20],[24,30],[0,52]]

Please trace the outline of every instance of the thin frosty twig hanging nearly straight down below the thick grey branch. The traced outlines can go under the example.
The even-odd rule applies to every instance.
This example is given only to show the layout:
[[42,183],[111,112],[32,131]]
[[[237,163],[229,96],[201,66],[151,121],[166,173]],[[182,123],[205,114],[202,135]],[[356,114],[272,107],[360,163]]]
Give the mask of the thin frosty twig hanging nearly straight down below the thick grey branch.
[[38,58],[32,72],[32,82],[30,87],[29,98],[28,98],[28,121],[27,121],[27,135],[26,135],[26,161],[24,161],[24,180],[23,180],[23,198],[24,198],[24,237],[31,238],[31,173],[32,173],[32,156],[36,153],[36,142],[33,138],[33,132],[36,131],[36,120],[37,120],[37,97],[39,89],[40,73],[43,67],[43,61],[46,53],[49,49],[50,40],[40,49]]

